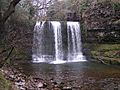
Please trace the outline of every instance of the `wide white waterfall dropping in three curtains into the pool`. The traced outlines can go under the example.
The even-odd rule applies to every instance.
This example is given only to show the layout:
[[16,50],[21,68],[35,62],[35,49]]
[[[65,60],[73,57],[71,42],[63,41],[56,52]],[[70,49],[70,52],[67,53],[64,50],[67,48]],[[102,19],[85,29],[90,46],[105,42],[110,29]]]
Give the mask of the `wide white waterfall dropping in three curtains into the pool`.
[[[36,23],[32,49],[33,62],[61,64],[86,60],[81,49],[79,22],[68,21],[66,29],[62,25],[62,22],[59,21]],[[64,36],[65,38],[63,38]],[[67,41],[67,44],[64,41]]]

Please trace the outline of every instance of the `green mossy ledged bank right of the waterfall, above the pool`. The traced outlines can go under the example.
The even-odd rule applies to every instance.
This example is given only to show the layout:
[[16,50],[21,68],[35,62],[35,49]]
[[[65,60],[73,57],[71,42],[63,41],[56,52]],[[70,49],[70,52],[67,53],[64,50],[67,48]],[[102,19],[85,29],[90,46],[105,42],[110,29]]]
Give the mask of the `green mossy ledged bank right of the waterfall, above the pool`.
[[89,49],[92,61],[104,64],[120,64],[120,44],[83,44]]

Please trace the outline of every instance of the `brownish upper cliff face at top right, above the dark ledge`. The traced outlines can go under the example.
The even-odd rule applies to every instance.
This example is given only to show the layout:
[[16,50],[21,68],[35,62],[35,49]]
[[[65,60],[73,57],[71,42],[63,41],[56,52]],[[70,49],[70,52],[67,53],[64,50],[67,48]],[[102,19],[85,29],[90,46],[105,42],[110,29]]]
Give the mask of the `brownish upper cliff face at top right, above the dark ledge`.
[[86,29],[120,29],[119,5],[108,1],[91,5],[82,14]]

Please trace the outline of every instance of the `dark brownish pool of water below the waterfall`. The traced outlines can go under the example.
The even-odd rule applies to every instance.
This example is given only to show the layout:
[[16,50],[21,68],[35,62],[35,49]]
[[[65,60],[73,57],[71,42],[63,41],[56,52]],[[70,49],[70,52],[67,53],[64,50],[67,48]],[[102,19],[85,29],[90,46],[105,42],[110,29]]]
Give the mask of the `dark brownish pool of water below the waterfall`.
[[72,90],[120,90],[120,67],[94,62],[67,64],[19,63],[28,76],[53,79],[58,84],[72,87]]

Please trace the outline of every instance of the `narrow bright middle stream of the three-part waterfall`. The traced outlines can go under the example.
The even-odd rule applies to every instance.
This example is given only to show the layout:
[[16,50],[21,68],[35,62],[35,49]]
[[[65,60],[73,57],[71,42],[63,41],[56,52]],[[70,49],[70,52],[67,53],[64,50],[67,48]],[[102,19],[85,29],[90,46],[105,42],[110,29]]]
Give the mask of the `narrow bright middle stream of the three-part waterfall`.
[[53,64],[65,63],[65,61],[63,61],[61,23],[58,21],[52,21],[51,24],[53,26],[55,36],[55,61],[51,63]]

